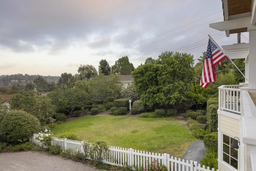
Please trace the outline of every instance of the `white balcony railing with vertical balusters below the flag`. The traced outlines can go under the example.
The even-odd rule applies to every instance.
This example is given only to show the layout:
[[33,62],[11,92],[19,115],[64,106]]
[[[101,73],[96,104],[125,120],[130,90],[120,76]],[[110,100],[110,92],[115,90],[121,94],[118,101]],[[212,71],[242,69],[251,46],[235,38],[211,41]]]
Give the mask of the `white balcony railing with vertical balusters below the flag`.
[[219,109],[241,114],[240,98],[243,85],[222,85],[219,87]]

